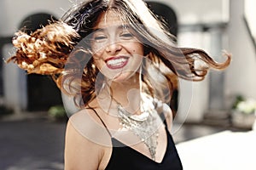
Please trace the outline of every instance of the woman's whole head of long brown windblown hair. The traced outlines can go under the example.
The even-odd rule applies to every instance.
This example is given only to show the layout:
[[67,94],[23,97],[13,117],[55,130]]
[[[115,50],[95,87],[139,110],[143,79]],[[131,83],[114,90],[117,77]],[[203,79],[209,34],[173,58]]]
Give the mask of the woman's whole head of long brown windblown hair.
[[[230,54],[225,54],[227,59],[224,63],[218,63],[201,49],[177,48],[173,41],[175,37],[142,0],[90,0],[79,3],[67,11],[60,21],[31,35],[18,31],[13,40],[17,52],[9,61],[13,60],[28,73],[52,76],[62,91],[74,96],[77,105],[88,105],[102,88],[102,82],[96,81],[103,76],[93,66],[90,47],[82,48],[83,45],[79,44],[94,31],[99,16],[108,10],[119,14],[124,24],[129,24],[136,31],[137,38],[144,45],[144,54],[148,59],[143,61],[142,81],[148,94],[165,94],[167,88],[172,93],[172,89],[177,88],[177,77],[201,81],[210,68],[222,70],[230,65]],[[88,46],[86,41],[84,43]],[[166,88],[160,83],[162,88],[154,89],[152,71],[163,75],[169,86]],[[170,100],[166,96],[164,98]]]

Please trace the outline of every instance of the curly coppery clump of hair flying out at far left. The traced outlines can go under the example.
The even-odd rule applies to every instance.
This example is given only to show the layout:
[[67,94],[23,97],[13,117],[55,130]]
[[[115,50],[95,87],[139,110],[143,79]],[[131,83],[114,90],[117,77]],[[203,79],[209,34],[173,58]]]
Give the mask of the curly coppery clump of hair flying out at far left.
[[13,38],[17,48],[10,60],[28,73],[57,74],[61,73],[68,54],[73,49],[73,39],[79,34],[63,22],[46,26],[27,35],[18,31]]

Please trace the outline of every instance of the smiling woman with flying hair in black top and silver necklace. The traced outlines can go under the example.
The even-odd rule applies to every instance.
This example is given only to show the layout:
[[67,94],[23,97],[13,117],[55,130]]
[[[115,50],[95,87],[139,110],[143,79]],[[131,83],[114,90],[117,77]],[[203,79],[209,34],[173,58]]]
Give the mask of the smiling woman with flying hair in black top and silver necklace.
[[84,1],[16,34],[9,61],[51,75],[80,108],[67,123],[65,169],[183,168],[170,133],[173,82],[201,81],[230,55],[217,63],[173,38],[142,0]]

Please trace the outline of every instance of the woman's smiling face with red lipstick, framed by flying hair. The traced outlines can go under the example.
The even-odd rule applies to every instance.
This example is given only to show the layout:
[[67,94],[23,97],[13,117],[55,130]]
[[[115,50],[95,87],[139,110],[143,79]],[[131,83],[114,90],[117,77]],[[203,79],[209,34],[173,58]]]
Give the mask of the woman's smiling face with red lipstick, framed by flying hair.
[[103,13],[91,37],[91,49],[96,67],[113,81],[133,77],[143,60],[143,44],[129,26],[125,26],[113,11]]

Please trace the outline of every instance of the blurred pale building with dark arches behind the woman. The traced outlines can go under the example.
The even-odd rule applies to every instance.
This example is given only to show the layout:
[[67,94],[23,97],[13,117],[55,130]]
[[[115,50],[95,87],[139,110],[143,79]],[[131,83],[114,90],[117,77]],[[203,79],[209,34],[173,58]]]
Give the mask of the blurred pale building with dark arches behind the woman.
[[[22,26],[31,30],[51,18],[60,18],[81,0],[2,0],[0,2],[0,105],[21,114],[48,110],[61,104],[61,93],[49,77],[26,75],[16,65],[4,63],[15,52],[11,38]],[[158,0],[147,1],[155,11],[172,10],[180,47],[203,48],[219,62],[223,49],[233,55],[225,71],[211,71],[203,82],[180,80],[178,122],[201,122],[229,115],[236,96],[256,98],[255,1],[253,0]],[[156,8],[157,4],[160,6]],[[170,13],[171,14],[171,13]],[[170,20],[175,20],[171,17]],[[168,17],[166,17],[168,21]],[[171,22],[172,25],[172,22]],[[176,28],[173,30],[173,28]],[[254,37],[254,38],[253,38]],[[0,113],[1,114],[1,113]],[[219,116],[221,115],[221,116]]]

